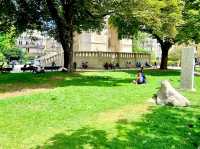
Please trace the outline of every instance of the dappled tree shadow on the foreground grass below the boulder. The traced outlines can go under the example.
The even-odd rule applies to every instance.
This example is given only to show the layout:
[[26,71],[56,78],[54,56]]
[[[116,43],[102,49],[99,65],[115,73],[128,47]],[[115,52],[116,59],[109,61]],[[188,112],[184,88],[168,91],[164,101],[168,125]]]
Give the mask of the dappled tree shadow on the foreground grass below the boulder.
[[105,130],[84,127],[70,135],[56,134],[36,148],[197,149],[200,146],[200,113],[196,110],[196,107],[156,107],[140,122],[117,122],[114,138],[109,138]]

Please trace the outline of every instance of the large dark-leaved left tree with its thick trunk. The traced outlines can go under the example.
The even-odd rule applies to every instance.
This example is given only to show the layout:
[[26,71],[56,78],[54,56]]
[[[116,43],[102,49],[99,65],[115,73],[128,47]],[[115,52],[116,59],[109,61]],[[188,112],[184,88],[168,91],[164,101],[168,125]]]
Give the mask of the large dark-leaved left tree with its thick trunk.
[[72,71],[74,32],[100,31],[112,5],[111,0],[2,0],[0,26],[48,32],[61,43],[64,67]]

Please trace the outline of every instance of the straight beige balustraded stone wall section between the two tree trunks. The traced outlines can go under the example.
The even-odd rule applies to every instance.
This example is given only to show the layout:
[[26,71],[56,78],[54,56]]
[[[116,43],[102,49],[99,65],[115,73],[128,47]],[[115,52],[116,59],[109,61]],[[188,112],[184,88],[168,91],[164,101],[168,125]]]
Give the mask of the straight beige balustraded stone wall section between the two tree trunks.
[[80,67],[82,62],[88,62],[89,68],[103,68],[107,63],[119,63],[121,68],[134,67],[136,62],[150,63],[150,54],[122,52],[75,52],[74,61]]

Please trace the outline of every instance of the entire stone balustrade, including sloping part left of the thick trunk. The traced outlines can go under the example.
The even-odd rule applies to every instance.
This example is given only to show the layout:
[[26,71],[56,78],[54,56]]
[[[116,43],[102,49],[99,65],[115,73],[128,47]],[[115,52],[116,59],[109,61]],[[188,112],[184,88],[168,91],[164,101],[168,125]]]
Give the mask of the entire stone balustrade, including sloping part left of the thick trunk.
[[[107,63],[119,63],[121,68],[134,67],[137,62],[150,64],[151,54],[149,53],[123,53],[123,52],[99,52],[99,51],[75,51],[74,62],[80,68],[83,62],[88,63],[89,68],[102,69]],[[49,55],[41,59],[43,66],[49,66],[52,62],[56,65],[63,65],[63,52]]]

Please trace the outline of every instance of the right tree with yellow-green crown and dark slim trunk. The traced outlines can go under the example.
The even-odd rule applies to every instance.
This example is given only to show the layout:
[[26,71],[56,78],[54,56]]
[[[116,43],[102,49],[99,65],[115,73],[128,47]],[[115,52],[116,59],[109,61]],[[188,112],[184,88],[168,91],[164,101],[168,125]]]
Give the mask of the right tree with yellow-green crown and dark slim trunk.
[[[160,69],[167,69],[168,52],[176,42],[177,26],[182,22],[181,0],[126,0],[110,22],[120,38],[133,38],[138,31],[151,34],[161,45]],[[123,9],[127,8],[127,9]]]

